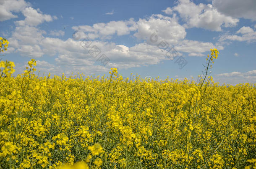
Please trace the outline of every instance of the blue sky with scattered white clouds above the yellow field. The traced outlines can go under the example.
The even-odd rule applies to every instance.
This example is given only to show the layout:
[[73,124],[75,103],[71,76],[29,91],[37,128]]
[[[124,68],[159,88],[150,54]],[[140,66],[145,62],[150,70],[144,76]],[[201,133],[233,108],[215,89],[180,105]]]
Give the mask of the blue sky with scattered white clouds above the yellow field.
[[0,0],[0,37],[14,76],[34,58],[39,76],[196,81],[217,48],[214,82],[256,83],[256,0]]

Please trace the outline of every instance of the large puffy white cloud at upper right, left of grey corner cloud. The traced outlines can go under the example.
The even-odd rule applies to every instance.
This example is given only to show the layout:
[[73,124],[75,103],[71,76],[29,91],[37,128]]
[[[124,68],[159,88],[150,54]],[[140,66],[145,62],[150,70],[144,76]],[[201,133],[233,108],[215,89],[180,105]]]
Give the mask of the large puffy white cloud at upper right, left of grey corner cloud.
[[200,3],[196,5],[190,0],[179,0],[178,5],[172,8],[185,20],[187,28],[205,28],[221,31],[221,27],[232,27],[237,25],[238,19],[219,13],[211,4]]

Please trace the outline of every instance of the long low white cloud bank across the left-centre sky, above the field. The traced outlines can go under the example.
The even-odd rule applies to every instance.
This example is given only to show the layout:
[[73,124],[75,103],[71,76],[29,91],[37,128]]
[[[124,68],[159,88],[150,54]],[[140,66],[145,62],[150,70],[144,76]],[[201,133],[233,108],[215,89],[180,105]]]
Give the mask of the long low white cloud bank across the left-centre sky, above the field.
[[[101,53],[93,58],[89,54],[89,48],[82,48],[81,41],[68,39],[66,41],[57,38],[45,38],[42,40],[42,47],[45,53],[57,54],[56,63],[62,66],[95,66],[99,64],[99,55],[106,55],[110,59],[105,67],[131,68],[157,64],[166,60],[165,53],[159,48],[146,43],[140,43],[131,48],[125,45],[116,45],[102,41],[92,41],[91,46],[96,45]],[[78,69],[78,68],[76,68]]]

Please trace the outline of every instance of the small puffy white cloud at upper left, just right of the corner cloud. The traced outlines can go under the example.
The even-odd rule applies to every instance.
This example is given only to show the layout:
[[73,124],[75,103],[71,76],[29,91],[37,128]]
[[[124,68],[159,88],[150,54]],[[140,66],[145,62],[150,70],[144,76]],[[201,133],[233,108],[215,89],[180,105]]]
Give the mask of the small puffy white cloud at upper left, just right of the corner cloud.
[[42,14],[42,12],[39,9],[35,10],[32,7],[25,8],[24,10],[22,10],[22,13],[26,18],[25,20],[16,21],[15,23],[18,26],[37,26],[43,23],[44,21],[52,21],[51,15]]

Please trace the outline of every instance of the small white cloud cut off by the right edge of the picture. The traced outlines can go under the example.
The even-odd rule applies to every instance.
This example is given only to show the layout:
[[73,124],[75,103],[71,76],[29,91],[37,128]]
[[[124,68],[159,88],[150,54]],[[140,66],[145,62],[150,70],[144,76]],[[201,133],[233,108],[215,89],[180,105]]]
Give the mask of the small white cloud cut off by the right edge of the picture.
[[247,41],[248,43],[252,43],[256,41],[256,31],[254,31],[250,27],[243,26],[236,33],[236,35],[222,35],[219,38],[219,41],[225,40],[238,40],[238,41]]

